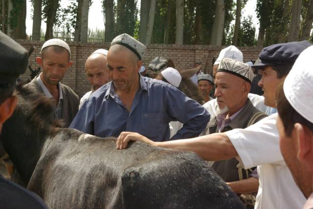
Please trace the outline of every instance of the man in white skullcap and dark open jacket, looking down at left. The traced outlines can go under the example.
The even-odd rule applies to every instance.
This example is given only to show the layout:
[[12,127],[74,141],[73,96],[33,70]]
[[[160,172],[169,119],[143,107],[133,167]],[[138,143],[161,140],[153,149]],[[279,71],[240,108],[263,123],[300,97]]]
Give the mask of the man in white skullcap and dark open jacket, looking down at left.
[[46,97],[55,102],[56,119],[62,119],[68,127],[74,119],[79,105],[76,93],[60,81],[65,76],[70,62],[70,49],[66,42],[60,39],[46,41],[40,51],[41,57],[36,58],[43,72],[36,76],[27,86],[43,92]]

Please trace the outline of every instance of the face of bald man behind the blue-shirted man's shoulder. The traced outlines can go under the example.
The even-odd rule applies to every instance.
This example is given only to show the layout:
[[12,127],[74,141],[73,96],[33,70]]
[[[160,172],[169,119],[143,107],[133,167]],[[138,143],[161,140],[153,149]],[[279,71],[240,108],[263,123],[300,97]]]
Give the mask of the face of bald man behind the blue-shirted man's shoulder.
[[85,69],[87,79],[94,91],[111,81],[107,58],[102,54],[91,55],[85,63]]

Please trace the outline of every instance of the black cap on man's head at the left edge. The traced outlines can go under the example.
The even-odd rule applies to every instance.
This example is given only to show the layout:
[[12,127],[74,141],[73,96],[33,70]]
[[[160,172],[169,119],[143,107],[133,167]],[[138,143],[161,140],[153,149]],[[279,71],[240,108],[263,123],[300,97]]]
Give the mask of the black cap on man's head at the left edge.
[[0,84],[17,80],[28,65],[28,53],[24,47],[0,32]]

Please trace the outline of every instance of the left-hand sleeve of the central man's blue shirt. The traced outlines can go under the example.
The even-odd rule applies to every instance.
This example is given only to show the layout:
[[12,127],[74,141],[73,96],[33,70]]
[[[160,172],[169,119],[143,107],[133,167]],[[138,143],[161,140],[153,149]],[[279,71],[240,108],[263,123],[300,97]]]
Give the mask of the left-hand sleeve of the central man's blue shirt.
[[79,109],[69,127],[94,135],[94,115],[95,100],[91,97]]

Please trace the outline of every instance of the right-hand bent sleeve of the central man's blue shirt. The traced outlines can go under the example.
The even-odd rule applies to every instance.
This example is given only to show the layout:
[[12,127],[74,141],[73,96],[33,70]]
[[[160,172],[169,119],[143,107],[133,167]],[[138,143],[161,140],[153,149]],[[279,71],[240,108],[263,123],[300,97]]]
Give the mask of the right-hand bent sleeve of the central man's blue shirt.
[[167,91],[167,111],[170,117],[183,124],[170,139],[188,139],[199,136],[210,120],[210,114],[198,102],[178,89]]

